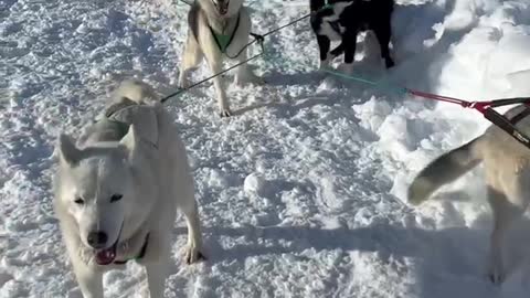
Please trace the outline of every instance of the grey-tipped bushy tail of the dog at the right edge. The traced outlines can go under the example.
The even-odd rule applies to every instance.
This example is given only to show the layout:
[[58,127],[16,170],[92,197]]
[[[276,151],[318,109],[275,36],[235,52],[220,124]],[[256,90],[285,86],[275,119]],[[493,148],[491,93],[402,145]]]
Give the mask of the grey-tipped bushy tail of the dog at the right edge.
[[453,182],[480,163],[480,143],[481,138],[478,137],[446,152],[425,167],[409,188],[409,202],[421,204],[438,188]]

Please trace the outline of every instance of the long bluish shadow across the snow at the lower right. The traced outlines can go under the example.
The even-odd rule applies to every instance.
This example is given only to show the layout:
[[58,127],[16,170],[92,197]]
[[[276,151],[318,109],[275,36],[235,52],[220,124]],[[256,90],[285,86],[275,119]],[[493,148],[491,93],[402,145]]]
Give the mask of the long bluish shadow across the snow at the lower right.
[[[242,226],[205,227],[204,235],[209,266],[233,262],[244,264],[247,258],[283,254],[296,256],[307,249],[316,253],[333,249],[378,253],[383,264],[391,260],[404,264],[405,259],[406,264],[411,264],[412,259],[412,264],[417,265],[412,267],[417,279],[412,287],[418,297],[499,297],[498,294],[505,287],[492,285],[486,275],[490,228],[491,216],[484,215],[475,221],[473,227],[442,230],[405,228],[391,224],[373,224],[352,230]],[[518,289],[530,281],[529,230],[529,220],[519,221],[506,242],[506,265],[511,268],[511,273],[505,285],[512,289],[512,285]],[[186,228],[182,227],[178,233],[186,234]],[[221,237],[239,240],[239,243],[245,244],[225,248],[218,242]]]

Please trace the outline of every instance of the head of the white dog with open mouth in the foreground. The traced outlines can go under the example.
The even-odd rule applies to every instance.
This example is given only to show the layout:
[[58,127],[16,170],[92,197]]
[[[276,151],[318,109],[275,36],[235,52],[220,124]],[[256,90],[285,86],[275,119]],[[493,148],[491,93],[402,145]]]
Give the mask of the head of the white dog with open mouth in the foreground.
[[80,149],[61,135],[55,181],[56,204],[74,220],[81,242],[94,259],[108,265],[116,257],[124,222],[134,201],[132,161],[137,148],[134,126],[119,142]]

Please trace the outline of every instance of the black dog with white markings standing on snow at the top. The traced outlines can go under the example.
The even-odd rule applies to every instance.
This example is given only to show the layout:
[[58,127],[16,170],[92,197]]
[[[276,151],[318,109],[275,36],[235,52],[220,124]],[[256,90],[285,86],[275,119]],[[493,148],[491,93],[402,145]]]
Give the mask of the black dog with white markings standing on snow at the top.
[[[344,63],[352,70],[357,34],[372,30],[381,46],[381,56],[386,68],[394,66],[390,57],[391,17],[394,0],[310,0],[311,26],[320,47],[320,68],[326,67],[336,56],[344,53]],[[332,40],[341,44],[331,52]]]

